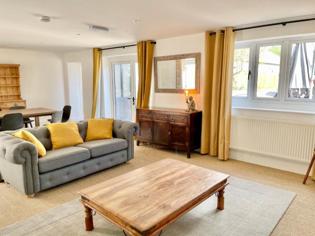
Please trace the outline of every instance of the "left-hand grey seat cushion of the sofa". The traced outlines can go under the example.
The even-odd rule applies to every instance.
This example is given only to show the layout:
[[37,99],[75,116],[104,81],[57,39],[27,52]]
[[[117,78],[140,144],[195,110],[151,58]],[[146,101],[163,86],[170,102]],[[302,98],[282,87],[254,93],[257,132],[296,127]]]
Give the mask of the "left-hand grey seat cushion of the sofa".
[[39,173],[45,173],[89,158],[90,151],[85,148],[66,147],[47,151],[45,157],[38,158],[38,171]]

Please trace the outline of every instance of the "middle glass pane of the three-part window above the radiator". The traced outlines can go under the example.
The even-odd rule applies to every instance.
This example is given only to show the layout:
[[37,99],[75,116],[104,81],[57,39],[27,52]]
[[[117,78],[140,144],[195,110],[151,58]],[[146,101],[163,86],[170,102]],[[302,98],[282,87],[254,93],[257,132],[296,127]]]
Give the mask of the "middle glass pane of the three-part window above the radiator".
[[259,47],[256,97],[277,98],[281,45]]

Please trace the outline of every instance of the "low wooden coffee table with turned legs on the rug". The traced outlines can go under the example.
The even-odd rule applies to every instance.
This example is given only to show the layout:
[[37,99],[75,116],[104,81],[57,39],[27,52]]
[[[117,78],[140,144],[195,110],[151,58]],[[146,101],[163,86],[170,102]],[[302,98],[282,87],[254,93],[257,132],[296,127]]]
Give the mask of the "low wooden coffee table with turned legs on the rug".
[[82,189],[86,230],[94,228],[92,210],[135,236],[159,233],[213,194],[223,210],[228,177],[167,158]]

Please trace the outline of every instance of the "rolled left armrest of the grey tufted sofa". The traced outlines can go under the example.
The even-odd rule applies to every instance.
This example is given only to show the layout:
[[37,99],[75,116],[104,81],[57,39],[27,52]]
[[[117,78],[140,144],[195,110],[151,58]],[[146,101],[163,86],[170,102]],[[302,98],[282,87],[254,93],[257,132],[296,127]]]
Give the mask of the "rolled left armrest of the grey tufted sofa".
[[11,134],[0,135],[1,177],[26,195],[40,190],[37,160],[34,144]]

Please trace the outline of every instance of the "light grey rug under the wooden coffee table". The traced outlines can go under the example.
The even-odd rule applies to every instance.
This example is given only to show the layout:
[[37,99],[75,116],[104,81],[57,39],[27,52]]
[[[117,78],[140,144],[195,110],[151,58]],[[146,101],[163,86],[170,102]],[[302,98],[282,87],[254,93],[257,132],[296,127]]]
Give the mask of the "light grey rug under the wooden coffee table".
[[[295,193],[242,180],[228,179],[225,209],[217,210],[213,195],[165,228],[161,236],[270,235],[295,198]],[[122,235],[121,229],[96,213],[94,230],[85,231],[83,205],[75,199],[64,205],[0,229],[0,235]]]

